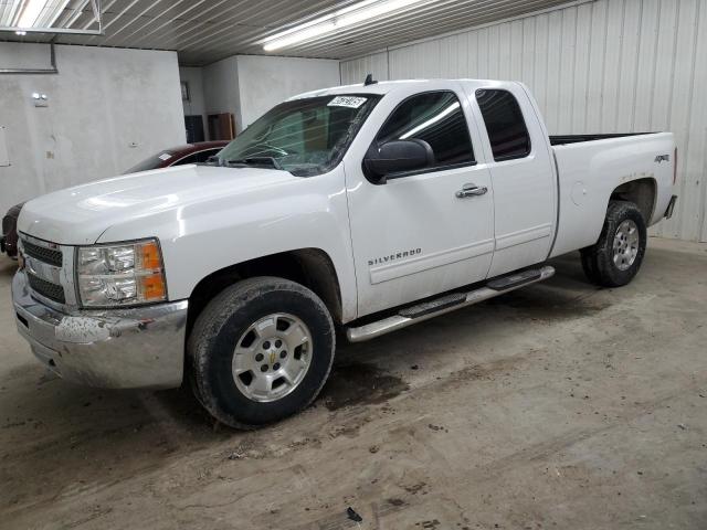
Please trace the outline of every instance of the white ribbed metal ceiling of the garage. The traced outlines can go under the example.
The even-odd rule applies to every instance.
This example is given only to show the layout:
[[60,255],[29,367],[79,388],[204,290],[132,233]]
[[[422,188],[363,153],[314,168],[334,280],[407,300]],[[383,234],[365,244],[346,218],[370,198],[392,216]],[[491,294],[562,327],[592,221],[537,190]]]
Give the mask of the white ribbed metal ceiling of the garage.
[[[0,0],[3,14],[17,2]],[[266,54],[262,40],[359,0],[103,0],[103,35],[0,33],[0,40],[175,50],[182,65],[204,65],[235,54]],[[421,0],[276,55],[347,59],[409,41],[552,8],[568,0]],[[57,23],[98,30],[89,0],[71,0]]]

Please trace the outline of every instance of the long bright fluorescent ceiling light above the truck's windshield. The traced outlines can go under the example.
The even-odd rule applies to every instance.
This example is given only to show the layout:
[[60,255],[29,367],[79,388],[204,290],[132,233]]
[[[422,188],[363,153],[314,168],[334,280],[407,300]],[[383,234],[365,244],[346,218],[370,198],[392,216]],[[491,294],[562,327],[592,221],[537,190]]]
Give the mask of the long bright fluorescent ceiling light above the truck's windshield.
[[420,3],[422,0],[363,0],[348,8],[339,9],[325,17],[310,20],[287,31],[268,36],[263,50],[272,52],[299,42],[308,41],[326,33],[333,33],[349,25],[376,19],[391,11]]

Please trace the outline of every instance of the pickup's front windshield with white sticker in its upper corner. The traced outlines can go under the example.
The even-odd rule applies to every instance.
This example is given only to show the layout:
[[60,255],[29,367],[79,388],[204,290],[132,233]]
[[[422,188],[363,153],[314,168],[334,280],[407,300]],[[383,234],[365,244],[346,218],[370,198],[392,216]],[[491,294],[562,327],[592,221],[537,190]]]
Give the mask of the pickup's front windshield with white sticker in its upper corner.
[[298,177],[334,168],[380,96],[323,96],[265,113],[219,153],[222,166],[283,169]]

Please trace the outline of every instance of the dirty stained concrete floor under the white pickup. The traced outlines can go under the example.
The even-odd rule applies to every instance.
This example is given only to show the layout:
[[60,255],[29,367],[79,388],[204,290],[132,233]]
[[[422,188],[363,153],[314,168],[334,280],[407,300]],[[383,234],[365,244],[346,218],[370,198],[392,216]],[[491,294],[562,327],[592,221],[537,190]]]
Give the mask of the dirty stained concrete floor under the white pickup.
[[[0,527],[707,528],[707,245],[339,348],[305,413],[218,428],[188,392],[73,386],[14,331],[0,262]],[[352,507],[362,517],[347,519]]]

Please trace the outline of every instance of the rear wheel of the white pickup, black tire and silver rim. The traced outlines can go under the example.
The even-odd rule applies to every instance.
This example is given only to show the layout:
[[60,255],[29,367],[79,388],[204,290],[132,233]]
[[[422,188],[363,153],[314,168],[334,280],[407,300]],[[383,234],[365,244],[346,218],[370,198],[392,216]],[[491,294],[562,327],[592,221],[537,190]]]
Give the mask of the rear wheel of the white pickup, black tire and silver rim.
[[587,278],[602,287],[620,287],[639,273],[647,242],[645,220],[637,206],[612,201],[599,241],[581,250]]

